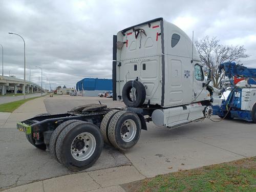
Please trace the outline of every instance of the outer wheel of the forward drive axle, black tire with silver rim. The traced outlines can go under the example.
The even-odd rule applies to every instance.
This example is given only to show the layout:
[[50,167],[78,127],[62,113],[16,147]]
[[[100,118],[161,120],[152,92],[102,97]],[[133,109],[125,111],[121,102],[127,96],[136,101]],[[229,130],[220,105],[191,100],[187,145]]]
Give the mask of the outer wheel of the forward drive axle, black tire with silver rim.
[[130,111],[116,113],[109,125],[109,141],[121,151],[129,150],[140,138],[141,122],[137,114]]

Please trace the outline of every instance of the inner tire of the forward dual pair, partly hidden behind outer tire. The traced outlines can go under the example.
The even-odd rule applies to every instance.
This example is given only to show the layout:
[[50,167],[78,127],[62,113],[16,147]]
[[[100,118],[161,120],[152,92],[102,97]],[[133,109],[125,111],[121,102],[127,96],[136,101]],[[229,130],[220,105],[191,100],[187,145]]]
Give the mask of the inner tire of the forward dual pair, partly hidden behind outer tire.
[[109,113],[107,113],[102,121],[101,121],[101,124],[100,124],[100,132],[101,134],[103,135],[103,140],[106,144],[108,145],[111,145],[110,141],[109,141],[109,133],[108,133],[108,130],[109,130],[109,124],[110,124],[110,121],[112,119],[112,117],[117,113],[119,112],[120,110],[112,110],[110,111]]

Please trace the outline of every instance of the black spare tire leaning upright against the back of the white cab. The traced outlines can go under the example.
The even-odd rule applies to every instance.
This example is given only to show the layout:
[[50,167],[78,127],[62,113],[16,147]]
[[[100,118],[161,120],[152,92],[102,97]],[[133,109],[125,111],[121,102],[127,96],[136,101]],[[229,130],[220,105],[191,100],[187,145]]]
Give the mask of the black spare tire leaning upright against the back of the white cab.
[[[130,92],[132,91],[132,88],[135,88],[135,99],[131,98]],[[134,80],[134,81],[127,81],[122,90],[122,99],[126,106],[131,106],[134,108],[138,108],[141,106],[146,98],[146,90],[143,86],[143,84],[140,81]]]

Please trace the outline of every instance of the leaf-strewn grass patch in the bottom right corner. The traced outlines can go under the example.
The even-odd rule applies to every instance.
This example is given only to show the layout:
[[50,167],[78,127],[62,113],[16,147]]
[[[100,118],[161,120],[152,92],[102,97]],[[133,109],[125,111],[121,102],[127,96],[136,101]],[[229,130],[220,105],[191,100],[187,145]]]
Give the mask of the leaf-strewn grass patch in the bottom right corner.
[[256,191],[256,157],[124,184],[126,191]]

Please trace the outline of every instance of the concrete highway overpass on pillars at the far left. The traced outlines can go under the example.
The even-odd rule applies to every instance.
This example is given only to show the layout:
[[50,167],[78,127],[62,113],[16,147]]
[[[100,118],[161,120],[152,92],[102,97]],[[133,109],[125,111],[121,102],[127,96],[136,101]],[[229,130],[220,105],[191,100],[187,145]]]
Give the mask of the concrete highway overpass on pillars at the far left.
[[7,90],[13,90],[14,94],[17,94],[18,91],[22,93],[24,93],[24,91],[26,91],[26,93],[34,93],[41,92],[41,86],[36,83],[26,81],[25,87],[24,79],[0,75],[0,90],[2,95],[5,95]]

